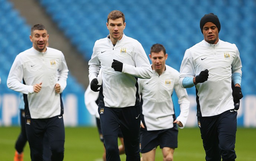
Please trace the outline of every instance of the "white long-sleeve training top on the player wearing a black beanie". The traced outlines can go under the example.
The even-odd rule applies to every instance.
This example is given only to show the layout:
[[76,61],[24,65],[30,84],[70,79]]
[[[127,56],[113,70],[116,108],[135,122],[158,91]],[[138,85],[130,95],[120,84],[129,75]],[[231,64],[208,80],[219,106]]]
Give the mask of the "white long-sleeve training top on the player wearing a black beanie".
[[209,44],[205,40],[186,50],[180,67],[180,85],[183,79],[193,78],[209,70],[206,82],[196,85],[197,116],[216,116],[234,109],[231,88],[232,73],[242,75],[242,63],[235,44],[219,40]]

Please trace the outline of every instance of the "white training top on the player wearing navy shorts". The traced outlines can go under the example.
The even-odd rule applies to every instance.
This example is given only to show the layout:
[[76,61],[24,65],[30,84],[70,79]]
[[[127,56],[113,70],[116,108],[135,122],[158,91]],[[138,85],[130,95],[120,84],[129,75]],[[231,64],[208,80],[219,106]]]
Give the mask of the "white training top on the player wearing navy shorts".
[[187,90],[180,86],[179,72],[168,65],[165,67],[166,69],[161,75],[153,70],[150,79],[138,79],[139,94],[143,102],[144,122],[142,122],[148,131],[173,127],[174,106],[171,96],[174,90],[180,105],[180,115],[177,120],[181,121],[183,127],[187,121],[190,105]]

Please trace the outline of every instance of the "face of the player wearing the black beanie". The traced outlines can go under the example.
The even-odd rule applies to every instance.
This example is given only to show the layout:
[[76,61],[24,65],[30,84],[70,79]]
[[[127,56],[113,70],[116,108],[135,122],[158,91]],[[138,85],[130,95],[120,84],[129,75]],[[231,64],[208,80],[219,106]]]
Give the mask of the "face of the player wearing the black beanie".
[[209,44],[217,44],[219,41],[219,30],[212,22],[207,22],[203,27],[204,40]]

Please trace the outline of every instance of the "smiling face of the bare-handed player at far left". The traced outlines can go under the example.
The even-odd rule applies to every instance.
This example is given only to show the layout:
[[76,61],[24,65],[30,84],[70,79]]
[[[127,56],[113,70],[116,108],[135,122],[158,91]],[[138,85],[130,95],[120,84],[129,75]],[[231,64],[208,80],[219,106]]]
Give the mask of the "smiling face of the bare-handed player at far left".
[[47,30],[35,30],[33,34],[30,35],[30,41],[33,43],[33,47],[39,52],[46,51],[46,45],[48,42],[49,35]]

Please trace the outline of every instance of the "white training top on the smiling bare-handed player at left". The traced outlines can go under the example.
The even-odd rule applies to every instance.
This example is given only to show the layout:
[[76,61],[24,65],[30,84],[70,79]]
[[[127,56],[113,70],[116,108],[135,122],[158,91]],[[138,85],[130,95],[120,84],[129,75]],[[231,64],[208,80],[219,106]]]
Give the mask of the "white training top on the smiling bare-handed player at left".
[[[39,52],[32,47],[16,56],[7,78],[7,86],[27,94],[27,118],[45,119],[61,114],[60,94],[55,92],[55,84],[59,83],[62,93],[67,78],[68,67],[61,51],[47,47],[46,52]],[[41,82],[40,92],[35,93],[33,85]]]

